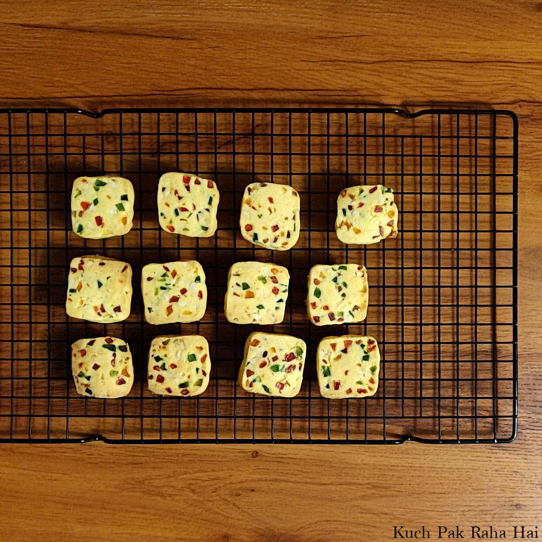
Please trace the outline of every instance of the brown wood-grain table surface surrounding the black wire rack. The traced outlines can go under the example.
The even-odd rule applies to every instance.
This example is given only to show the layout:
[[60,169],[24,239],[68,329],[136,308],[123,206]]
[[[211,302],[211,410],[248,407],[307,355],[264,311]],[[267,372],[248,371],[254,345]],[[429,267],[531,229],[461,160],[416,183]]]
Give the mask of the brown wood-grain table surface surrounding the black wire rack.
[[[390,540],[538,525],[542,3],[0,4],[0,106],[518,114],[519,435],[494,446],[0,446],[2,540]],[[524,220],[525,217],[525,220]],[[528,217],[528,220],[527,220]],[[542,526],[541,526],[542,527]],[[114,536],[113,536],[114,533]],[[468,531],[465,535],[470,535]]]

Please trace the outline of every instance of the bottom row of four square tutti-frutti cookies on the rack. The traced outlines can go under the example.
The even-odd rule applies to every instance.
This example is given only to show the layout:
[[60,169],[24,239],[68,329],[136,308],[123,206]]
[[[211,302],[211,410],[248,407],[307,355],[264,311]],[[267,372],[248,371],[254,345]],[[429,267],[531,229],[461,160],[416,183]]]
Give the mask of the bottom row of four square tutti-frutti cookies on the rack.
[[[295,397],[303,380],[306,350],[305,342],[291,335],[251,333],[238,384],[251,393]],[[375,395],[379,369],[380,351],[373,337],[325,337],[318,345],[322,397]],[[72,373],[80,395],[124,397],[134,381],[130,347],[114,337],[80,339],[72,345]],[[152,340],[147,362],[147,385],[152,393],[197,396],[207,389],[210,373],[209,344],[201,335],[164,335]]]

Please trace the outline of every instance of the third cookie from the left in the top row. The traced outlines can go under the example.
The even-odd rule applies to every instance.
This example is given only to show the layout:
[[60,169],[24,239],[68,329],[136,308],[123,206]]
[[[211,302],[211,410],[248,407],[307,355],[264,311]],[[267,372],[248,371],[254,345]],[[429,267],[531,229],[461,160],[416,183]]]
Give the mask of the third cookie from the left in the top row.
[[299,238],[299,194],[287,184],[251,183],[241,203],[241,235],[272,250],[291,249]]

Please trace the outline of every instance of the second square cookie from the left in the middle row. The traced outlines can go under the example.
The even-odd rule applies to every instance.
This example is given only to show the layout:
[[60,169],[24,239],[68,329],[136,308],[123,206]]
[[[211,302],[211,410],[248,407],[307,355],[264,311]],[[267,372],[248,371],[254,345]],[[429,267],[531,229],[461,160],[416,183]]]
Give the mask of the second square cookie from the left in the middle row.
[[141,269],[145,320],[149,324],[195,322],[207,308],[207,286],[201,263],[149,263]]

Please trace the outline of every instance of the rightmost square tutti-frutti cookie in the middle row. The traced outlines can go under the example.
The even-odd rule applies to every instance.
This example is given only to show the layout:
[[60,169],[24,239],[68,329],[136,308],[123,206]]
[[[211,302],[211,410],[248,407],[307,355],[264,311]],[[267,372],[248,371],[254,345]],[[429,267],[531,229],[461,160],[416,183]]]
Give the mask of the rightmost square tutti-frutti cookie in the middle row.
[[369,302],[367,270],[357,263],[317,265],[308,275],[307,313],[317,326],[365,320]]

